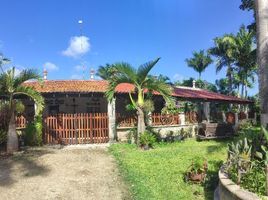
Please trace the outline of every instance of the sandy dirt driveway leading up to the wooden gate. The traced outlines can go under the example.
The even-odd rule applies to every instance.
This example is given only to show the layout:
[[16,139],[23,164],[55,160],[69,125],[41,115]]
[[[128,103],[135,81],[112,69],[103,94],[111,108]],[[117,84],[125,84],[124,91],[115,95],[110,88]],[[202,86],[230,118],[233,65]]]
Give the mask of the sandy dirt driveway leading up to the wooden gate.
[[1,199],[131,199],[102,149],[29,149],[0,159]]

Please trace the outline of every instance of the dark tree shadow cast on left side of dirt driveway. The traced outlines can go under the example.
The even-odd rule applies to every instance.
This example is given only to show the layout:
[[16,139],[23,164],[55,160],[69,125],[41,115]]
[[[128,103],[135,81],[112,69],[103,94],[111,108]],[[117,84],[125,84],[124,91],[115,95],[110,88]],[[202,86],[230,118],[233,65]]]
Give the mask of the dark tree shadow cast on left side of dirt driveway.
[[38,158],[52,154],[47,148],[30,148],[9,157],[0,158],[0,187],[8,187],[20,179],[46,175],[48,167],[38,163]]

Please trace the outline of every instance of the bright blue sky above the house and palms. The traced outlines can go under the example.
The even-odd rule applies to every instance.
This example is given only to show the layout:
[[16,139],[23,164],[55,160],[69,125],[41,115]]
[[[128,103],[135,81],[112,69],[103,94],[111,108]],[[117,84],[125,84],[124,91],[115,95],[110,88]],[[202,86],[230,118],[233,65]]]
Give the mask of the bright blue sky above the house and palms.
[[[185,59],[211,47],[214,37],[249,24],[252,13],[239,5],[240,0],[1,0],[0,52],[19,69],[46,67],[49,79],[82,78],[83,63],[88,78],[89,69],[99,65],[139,66],[156,57],[161,60],[153,74],[197,78]],[[83,40],[75,38],[80,19]],[[216,75],[211,65],[202,76],[214,82],[225,71]],[[256,92],[257,85],[250,93]]]

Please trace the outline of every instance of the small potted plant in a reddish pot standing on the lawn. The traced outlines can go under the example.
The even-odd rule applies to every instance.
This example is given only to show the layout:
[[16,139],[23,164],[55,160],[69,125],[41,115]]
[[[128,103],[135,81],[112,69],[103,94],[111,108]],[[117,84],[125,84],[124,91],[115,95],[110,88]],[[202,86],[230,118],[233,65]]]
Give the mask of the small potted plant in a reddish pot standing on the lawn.
[[207,161],[206,159],[196,157],[186,172],[186,180],[195,183],[204,182],[207,174]]

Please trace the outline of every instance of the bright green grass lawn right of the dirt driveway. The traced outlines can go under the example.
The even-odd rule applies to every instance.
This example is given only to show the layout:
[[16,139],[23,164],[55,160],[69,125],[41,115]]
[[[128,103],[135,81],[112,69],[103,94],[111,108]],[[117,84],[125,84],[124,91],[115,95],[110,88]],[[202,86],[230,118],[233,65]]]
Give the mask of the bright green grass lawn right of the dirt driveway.
[[[129,184],[134,199],[213,199],[217,173],[227,153],[227,141],[189,139],[157,144],[143,151],[131,144],[114,144],[110,152]],[[208,160],[209,180],[204,185],[184,181],[184,173],[195,156]]]

